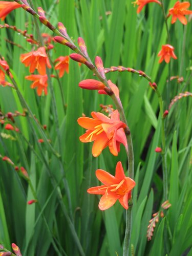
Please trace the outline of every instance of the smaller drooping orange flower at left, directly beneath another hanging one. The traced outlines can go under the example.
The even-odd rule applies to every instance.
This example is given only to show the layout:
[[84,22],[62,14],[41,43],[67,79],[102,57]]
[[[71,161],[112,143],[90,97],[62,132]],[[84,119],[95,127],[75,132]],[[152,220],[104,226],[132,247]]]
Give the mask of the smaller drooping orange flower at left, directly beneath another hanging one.
[[47,95],[47,75],[30,75],[25,77],[27,80],[34,81],[31,84],[31,88],[34,89],[37,87],[37,95],[40,96],[42,94],[42,91],[45,92],[45,95]]

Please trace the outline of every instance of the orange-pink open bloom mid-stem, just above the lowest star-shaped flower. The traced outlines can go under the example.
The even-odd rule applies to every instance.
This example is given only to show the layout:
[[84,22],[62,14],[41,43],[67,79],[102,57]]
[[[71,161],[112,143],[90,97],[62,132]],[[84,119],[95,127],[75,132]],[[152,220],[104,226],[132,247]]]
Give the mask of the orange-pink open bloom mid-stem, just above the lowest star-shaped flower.
[[110,152],[117,156],[120,151],[120,143],[127,147],[123,130],[126,124],[120,121],[119,112],[115,110],[111,114],[111,118],[99,112],[92,112],[91,115],[93,118],[80,117],[77,120],[80,126],[88,129],[85,134],[79,137],[80,141],[94,141],[92,147],[94,157],[99,156],[106,146],[109,146]]

